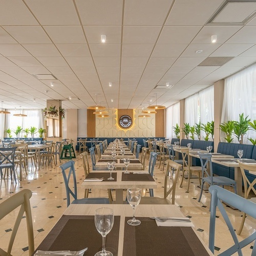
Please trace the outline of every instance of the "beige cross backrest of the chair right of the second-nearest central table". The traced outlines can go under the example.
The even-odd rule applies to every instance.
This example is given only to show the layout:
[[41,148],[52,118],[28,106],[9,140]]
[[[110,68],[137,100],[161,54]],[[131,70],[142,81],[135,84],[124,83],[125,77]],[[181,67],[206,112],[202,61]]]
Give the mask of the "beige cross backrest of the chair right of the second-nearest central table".
[[[172,204],[175,203],[175,191],[176,191],[176,185],[177,181],[179,179],[179,172],[182,169],[182,165],[178,164],[172,160],[167,160],[166,161],[166,172],[165,172],[165,177],[164,177],[164,193],[163,196],[164,198],[167,198],[168,195],[172,193]],[[174,172],[176,172],[174,174]],[[167,181],[169,180],[169,177],[173,180],[172,186],[169,187],[167,190]]]

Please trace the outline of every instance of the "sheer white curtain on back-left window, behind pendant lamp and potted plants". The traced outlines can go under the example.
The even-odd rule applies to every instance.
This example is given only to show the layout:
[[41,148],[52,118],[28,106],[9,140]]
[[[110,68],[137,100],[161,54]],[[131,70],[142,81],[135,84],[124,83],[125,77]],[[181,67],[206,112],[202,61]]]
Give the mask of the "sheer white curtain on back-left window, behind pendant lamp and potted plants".
[[[44,127],[44,116],[42,110],[40,109],[25,109],[25,110],[7,110],[11,114],[6,115],[5,129],[16,130],[17,126],[21,126],[23,129],[30,128],[35,126],[38,128]],[[13,116],[13,114],[22,114],[27,115],[26,117]],[[15,134],[12,134],[15,137]],[[36,135],[36,137],[38,137]]]

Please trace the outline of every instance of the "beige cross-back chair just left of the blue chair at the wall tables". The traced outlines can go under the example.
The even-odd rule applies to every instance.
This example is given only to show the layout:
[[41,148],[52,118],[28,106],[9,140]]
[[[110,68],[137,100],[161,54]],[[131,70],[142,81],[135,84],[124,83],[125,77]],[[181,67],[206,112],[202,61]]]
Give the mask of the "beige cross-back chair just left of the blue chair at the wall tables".
[[188,153],[189,153],[189,148],[181,148],[181,155],[182,155],[182,159],[183,159],[183,170],[182,170],[182,179],[181,179],[180,187],[182,187],[184,174],[185,174],[185,172],[187,172],[188,173],[187,192],[189,191],[191,174],[193,174],[193,173],[198,174],[199,183],[201,185],[200,173],[202,171],[201,166],[191,166],[190,157],[189,157]]

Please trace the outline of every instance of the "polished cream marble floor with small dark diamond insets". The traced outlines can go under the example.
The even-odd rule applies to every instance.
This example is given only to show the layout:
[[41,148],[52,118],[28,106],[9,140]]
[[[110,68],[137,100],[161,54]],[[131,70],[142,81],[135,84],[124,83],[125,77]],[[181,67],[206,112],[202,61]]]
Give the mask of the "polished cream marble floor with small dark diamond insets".
[[[65,161],[67,160],[61,160],[61,163]],[[82,198],[83,190],[80,188],[80,184],[84,179],[82,160],[77,157],[75,162],[78,198]],[[58,162],[57,164],[59,165],[60,163]],[[155,178],[158,183],[158,188],[154,189],[154,194],[155,196],[162,197],[164,174],[162,172],[162,166],[161,169],[159,169],[158,164],[159,162],[157,162],[155,167]],[[63,211],[65,211],[67,208],[66,189],[65,185],[63,184],[63,178],[58,165],[53,168],[45,166],[39,171],[36,170],[35,167],[29,166],[28,176],[24,176],[23,180],[20,182],[18,181],[17,184],[11,183],[9,179],[0,180],[0,203],[21,189],[28,188],[32,190],[33,196],[30,202],[33,217],[35,248],[46,237],[48,232],[62,215]],[[180,207],[184,216],[191,218],[191,221],[195,225],[197,234],[207,245],[209,231],[210,194],[207,191],[204,191],[202,200],[199,203],[199,181],[198,179],[193,179],[192,182],[193,183],[190,185],[189,193],[186,193],[187,180],[184,180],[183,187],[177,186],[175,204]],[[113,192],[113,196],[114,194],[115,193]],[[146,191],[145,195],[149,196]],[[108,194],[106,190],[94,189],[92,193],[89,194],[89,197],[108,197]],[[234,228],[238,229],[242,219],[241,212],[230,207],[226,207],[226,210]],[[16,213],[17,211],[15,210],[9,216],[0,220],[0,247],[3,249],[6,249],[7,243],[9,242]],[[255,232],[255,228],[256,221],[251,217],[247,217],[244,229],[241,233],[241,236],[239,236],[239,240],[242,240],[252,232]],[[24,219],[22,220],[14,242],[12,250],[12,254],[14,256],[28,255],[27,235],[25,235],[26,232],[26,221]],[[224,223],[221,214],[217,212],[215,254],[218,255],[232,244],[232,238],[226,227],[226,224]],[[252,244],[244,248],[243,254],[251,255],[251,251]]]

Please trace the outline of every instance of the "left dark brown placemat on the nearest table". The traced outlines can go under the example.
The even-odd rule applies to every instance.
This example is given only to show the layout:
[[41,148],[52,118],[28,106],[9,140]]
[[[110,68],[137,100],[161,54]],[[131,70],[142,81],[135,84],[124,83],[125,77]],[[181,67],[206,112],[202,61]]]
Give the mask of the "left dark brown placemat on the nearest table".
[[[106,236],[106,250],[118,254],[120,216]],[[84,255],[95,255],[102,249],[102,237],[94,224],[94,216],[63,215],[36,250],[78,251],[88,247]]]

